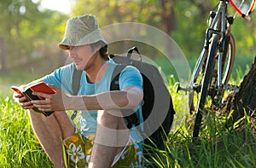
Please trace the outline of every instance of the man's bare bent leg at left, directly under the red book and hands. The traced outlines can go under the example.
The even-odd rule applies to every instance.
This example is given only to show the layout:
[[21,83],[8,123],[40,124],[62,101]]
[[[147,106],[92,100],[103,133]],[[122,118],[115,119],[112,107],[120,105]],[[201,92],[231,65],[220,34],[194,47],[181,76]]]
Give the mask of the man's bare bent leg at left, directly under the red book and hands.
[[66,112],[55,112],[48,117],[36,113],[32,109],[29,113],[32,129],[38,141],[44,148],[49,159],[56,168],[64,167],[62,140],[73,136],[75,127]]

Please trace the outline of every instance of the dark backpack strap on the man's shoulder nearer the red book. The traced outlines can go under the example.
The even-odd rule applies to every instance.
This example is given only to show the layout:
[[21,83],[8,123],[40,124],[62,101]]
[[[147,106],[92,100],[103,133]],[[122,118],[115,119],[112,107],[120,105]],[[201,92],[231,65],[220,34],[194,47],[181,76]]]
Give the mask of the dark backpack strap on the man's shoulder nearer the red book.
[[[72,78],[72,90],[73,90],[73,95],[76,96],[79,93],[80,89],[80,80],[82,76],[82,70],[77,70],[77,68],[74,67],[73,70],[73,78]],[[73,120],[77,116],[78,110],[74,110],[71,119]]]

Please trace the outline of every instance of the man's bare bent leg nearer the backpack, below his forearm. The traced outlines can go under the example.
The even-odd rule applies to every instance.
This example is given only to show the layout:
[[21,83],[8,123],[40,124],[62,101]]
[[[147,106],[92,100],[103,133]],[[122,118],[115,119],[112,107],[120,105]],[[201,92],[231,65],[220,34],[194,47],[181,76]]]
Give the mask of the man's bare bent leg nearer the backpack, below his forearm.
[[125,147],[129,136],[129,130],[119,111],[99,111],[89,167],[110,167],[114,156]]

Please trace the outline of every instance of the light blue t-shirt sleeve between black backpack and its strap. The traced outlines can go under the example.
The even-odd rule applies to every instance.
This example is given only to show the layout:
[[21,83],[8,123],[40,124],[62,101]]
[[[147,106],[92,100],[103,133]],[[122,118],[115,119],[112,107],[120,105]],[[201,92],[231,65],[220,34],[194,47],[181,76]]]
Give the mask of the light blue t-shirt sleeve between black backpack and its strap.
[[143,77],[136,67],[127,66],[120,73],[119,87],[123,90],[126,87],[135,86],[143,90]]

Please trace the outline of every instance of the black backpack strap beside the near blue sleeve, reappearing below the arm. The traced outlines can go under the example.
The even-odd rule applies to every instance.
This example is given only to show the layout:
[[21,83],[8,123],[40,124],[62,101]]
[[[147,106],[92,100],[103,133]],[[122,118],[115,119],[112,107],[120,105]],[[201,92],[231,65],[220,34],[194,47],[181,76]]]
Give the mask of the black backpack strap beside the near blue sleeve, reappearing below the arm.
[[[114,70],[112,75],[112,80],[110,84],[110,90],[120,90],[119,88],[119,75],[120,72],[125,69],[125,64],[118,64]],[[131,129],[132,125],[139,125],[139,121],[137,119],[137,114],[131,111],[131,109],[122,109],[121,112],[125,115],[125,119],[127,120],[127,128]]]

